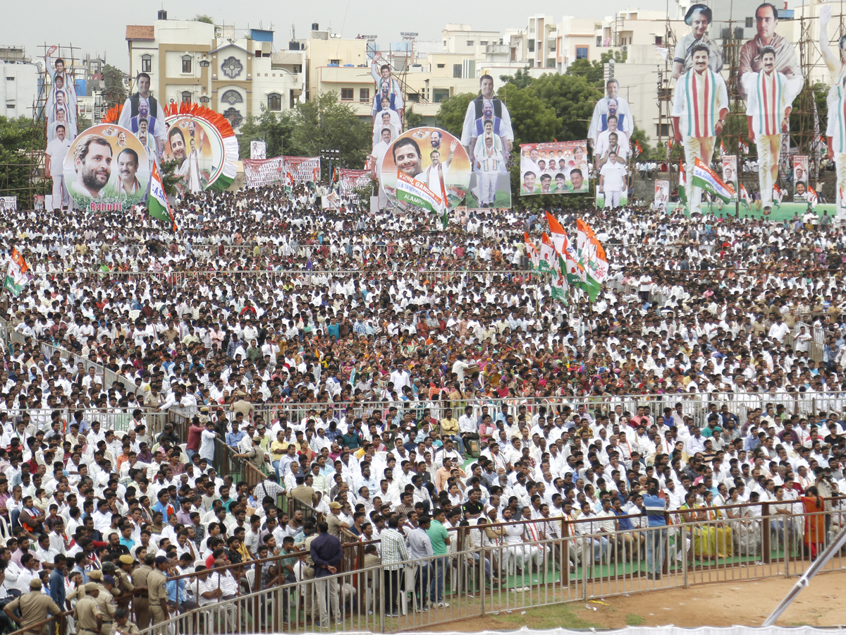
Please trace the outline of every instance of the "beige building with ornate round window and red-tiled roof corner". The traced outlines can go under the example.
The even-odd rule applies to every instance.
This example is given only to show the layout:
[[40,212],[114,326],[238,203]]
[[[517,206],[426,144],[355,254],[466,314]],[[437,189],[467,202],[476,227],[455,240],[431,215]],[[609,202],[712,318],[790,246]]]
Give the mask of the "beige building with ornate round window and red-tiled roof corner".
[[[305,99],[305,52],[273,50],[272,31],[168,19],[128,25],[129,75],[145,72],[159,102],[194,102],[222,113],[236,128],[262,108],[280,112]],[[134,89],[133,89],[134,90]]]

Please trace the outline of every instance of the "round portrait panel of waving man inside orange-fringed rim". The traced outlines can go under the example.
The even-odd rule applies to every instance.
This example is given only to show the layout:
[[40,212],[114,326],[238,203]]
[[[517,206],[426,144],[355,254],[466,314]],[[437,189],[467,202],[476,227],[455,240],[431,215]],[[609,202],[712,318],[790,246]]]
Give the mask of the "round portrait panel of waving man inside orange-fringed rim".
[[176,161],[181,191],[199,192],[222,174],[223,140],[217,130],[195,117],[168,117],[166,161]]

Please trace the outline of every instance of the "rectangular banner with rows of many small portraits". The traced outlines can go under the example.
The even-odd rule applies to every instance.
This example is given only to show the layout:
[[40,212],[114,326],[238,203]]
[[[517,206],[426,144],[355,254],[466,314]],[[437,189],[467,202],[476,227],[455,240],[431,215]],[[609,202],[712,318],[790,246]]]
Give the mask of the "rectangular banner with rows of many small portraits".
[[587,141],[520,146],[520,196],[584,194],[590,190]]

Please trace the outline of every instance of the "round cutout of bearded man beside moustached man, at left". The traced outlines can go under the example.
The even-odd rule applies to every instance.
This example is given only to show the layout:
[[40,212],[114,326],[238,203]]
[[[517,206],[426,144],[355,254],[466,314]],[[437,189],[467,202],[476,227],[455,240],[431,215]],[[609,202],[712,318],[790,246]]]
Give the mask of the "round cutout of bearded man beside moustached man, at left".
[[144,197],[150,163],[144,146],[129,130],[99,124],[71,144],[64,159],[70,196],[89,212],[128,212]]

